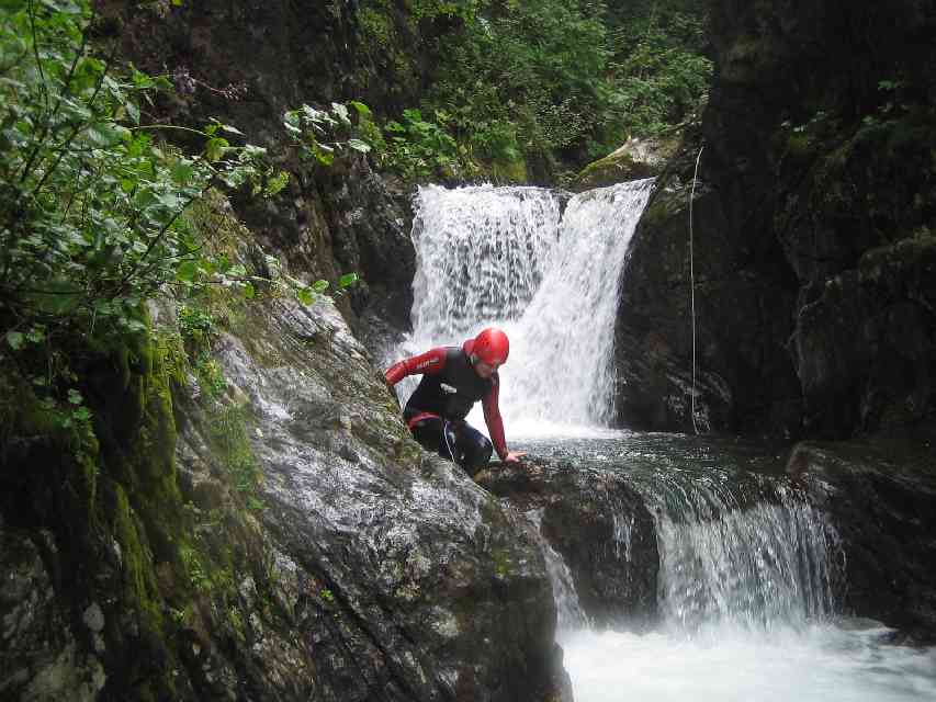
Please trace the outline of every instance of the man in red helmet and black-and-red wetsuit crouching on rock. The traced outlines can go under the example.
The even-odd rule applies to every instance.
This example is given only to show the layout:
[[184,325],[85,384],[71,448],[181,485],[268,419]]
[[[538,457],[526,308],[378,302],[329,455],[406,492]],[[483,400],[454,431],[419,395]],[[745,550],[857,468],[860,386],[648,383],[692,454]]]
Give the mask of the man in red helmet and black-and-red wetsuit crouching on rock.
[[[523,453],[507,450],[504,421],[497,406],[500,380],[497,369],[507,361],[510,342],[500,329],[488,328],[459,347],[439,347],[421,355],[398,361],[385,373],[391,385],[407,375],[422,380],[406,403],[403,418],[414,438],[429,451],[438,451],[469,473],[486,465],[492,449],[505,463],[519,463]],[[474,404],[481,400],[484,421],[490,433],[484,434],[465,421]]]

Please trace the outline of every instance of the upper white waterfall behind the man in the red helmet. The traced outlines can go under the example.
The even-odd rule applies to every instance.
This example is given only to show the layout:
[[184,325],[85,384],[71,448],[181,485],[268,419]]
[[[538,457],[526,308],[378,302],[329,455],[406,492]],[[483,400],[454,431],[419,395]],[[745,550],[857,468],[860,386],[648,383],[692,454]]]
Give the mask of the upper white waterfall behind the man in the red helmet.
[[489,325],[510,337],[508,431],[605,426],[621,270],[652,180],[572,197],[534,188],[420,189],[414,330],[403,352],[460,344]]

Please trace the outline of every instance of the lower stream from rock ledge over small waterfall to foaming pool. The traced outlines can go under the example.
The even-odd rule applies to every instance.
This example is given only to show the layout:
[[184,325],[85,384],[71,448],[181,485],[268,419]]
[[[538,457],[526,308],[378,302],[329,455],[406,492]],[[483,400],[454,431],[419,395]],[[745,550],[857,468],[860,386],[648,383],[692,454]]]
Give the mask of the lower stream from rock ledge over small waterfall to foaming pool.
[[[557,639],[576,702],[936,699],[936,649],[895,645],[879,622],[843,615],[846,554],[827,518],[783,479],[781,454],[630,432],[522,448],[624,476],[655,524],[650,626],[601,631],[568,616],[574,581],[557,553],[546,556],[550,577],[562,578]],[[627,530],[614,541],[627,548]]]

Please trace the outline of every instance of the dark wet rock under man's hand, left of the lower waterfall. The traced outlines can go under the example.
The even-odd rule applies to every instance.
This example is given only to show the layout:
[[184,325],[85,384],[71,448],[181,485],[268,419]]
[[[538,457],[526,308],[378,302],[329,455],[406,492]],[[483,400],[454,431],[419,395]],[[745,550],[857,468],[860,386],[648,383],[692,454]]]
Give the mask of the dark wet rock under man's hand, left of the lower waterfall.
[[656,531],[625,478],[538,460],[493,467],[475,479],[514,509],[539,512],[542,537],[568,566],[594,625],[631,629],[656,616]]

